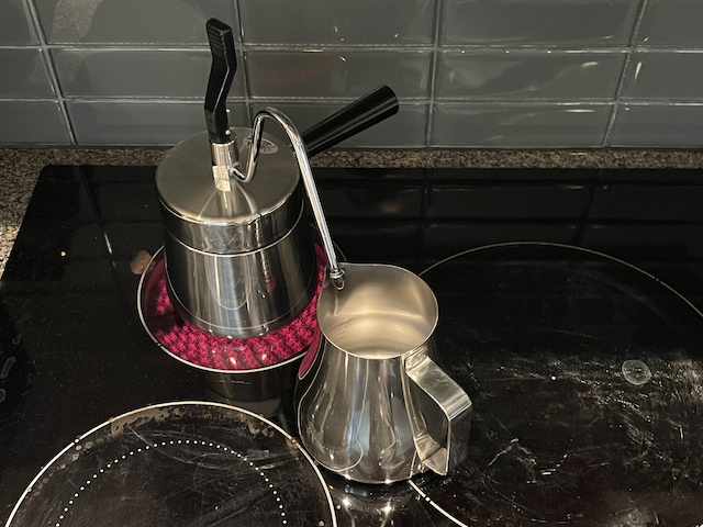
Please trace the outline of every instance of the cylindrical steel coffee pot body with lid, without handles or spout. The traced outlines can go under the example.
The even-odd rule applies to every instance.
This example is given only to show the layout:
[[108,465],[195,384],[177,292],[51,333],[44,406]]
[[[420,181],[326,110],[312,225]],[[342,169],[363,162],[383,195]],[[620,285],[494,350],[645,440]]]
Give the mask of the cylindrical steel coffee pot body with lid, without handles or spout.
[[[245,156],[250,131],[233,131]],[[316,289],[295,158],[271,136],[263,154],[253,180],[233,179],[228,191],[214,184],[204,133],[174,147],[157,169],[169,294],[187,321],[213,335],[283,327]]]

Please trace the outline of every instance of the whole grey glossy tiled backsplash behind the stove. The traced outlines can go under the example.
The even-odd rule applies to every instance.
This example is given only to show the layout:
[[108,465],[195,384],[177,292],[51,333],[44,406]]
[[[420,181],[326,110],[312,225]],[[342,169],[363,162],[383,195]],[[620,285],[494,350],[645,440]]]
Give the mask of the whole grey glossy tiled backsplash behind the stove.
[[703,145],[698,0],[2,0],[0,145],[172,145],[204,130],[205,21],[235,29],[233,125],[299,128],[378,85],[349,147]]

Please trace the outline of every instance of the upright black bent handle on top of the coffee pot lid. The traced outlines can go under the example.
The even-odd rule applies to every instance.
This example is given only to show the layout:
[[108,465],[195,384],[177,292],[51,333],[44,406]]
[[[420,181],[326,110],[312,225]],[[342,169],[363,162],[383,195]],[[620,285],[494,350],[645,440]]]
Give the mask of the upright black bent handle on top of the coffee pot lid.
[[212,52],[212,66],[205,94],[205,122],[212,143],[224,144],[231,141],[227,123],[227,94],[237,69],[232,27],[216,19],[205,24]]

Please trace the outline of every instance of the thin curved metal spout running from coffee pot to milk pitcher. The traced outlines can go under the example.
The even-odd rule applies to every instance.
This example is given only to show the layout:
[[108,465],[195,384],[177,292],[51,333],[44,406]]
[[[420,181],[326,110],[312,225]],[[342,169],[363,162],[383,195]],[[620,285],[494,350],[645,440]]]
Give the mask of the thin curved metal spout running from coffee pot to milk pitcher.
[[288,137],[290,138],[295,158],[298,159],[298,166],[300,167],[300,173],[303,178],[303,186],[308,192],[310,204],[312,205],[312,212],[320,228],[320,237],[322,239],[323,248],[327,255],[327,266],[330,268],[328,274],[332,282],[337,289],[344,288],[344,270],[339,268],[337,262],[337,255],[334,251],[332,244],[332,236],[330,235],[330,228],[327,227],[327,221],[325,220],[324,212],[322,210],[322,203],[320,202],[320,195],[317,194],[317,188],[312,177],[312,169],[310,168],[310,161],[308,160],[308,149],[303,139],[298,132],[295,125],[288,116],[276,110],[275,108],[265,108],[259,111],[254,119],[254,125],[252,126],[252,144],[249,145],[249,154],[247,156],[246,167],[244,172],[237,167],[233,168],[233,173],[242,181],[248,182],[254,177],[256,171],[256,165],[258,162],[259,150],[261,146],[261,136],[264,134],[264,121],[266,119],[272,119],[281,125]]

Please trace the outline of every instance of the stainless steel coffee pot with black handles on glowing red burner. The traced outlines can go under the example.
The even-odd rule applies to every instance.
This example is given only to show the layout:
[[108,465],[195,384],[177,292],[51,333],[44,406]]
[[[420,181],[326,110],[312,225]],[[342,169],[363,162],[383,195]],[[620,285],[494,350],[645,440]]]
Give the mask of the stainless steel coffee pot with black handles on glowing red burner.
[[[216,336],[250,338],[283,327],[308,306],[317,264],[297,156],[263,134],[264,119],[280,112],[259,112],[253,130],[228,126],[234,40],[220,21],[207,27],[208,132],[176,145],[156,171],[167,284],[185,319]],[[381,87],[304,132],[305,155],[397,111],[395,96]]]

